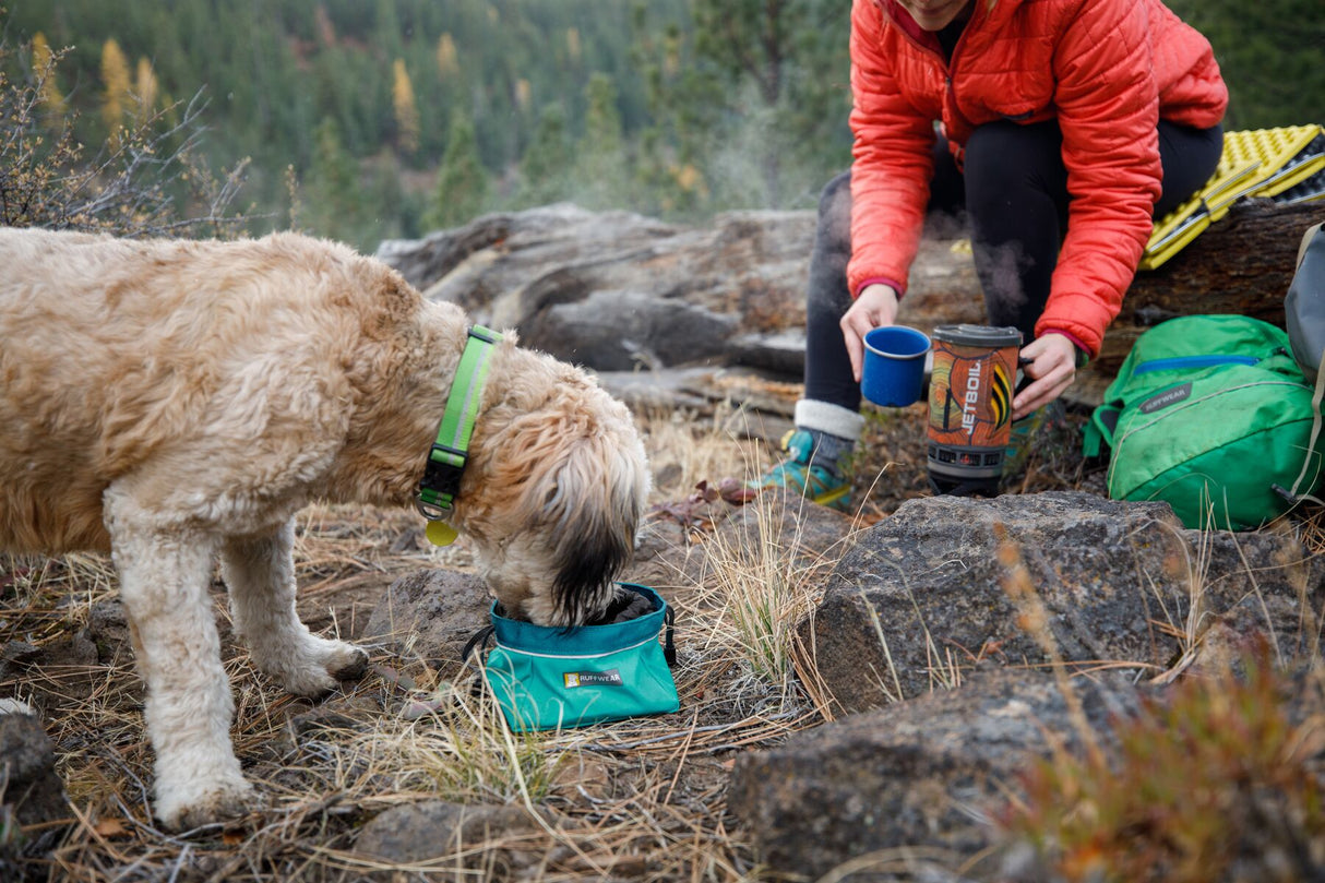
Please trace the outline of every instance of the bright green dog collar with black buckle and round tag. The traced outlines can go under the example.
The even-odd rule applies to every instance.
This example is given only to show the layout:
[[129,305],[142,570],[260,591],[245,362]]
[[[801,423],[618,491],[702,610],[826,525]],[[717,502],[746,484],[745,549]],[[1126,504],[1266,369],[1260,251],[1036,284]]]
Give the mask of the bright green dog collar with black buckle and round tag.
[[[447,410],[437,426],[437,440],[432,444],[428,465],[419,481],[419,495],[415,499],[419,512],[429,522],[441,521],[450,512],[456,496],[460,493],[460,476],[469,459],[469,438],[473,435],[474,422],[478,419],[489,357],[498,341],[501,341],[501,334],[492,329],[481,325],[469,329],[465,351],[460,357],[456,377],[450,382]],[[433,530],[432,524],[428,528],[428,538],[437,545],[447,545],[454,540],[454,530],[449,525],[443,530]],[[447,538],[448,532],[449,538]],[[445,542],[439,542],[439,540],[445,540]]]

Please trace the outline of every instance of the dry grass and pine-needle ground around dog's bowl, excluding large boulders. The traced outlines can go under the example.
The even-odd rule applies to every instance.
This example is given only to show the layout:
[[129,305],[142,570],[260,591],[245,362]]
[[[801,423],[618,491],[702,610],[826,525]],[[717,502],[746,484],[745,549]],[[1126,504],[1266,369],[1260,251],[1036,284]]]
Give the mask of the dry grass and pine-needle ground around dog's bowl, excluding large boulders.
[[[739,540],[713,545],[741,508],[697,489],[772,456],[758,439],[780,426],[772,402],[795,387],[758,386],[767,411],[742,408],[717,378],[696,386],[706,390],[702,406],[647,418],[659,488],[632,578],[659,586],[680,611],[680,712],[511,740],[493,708],[469,697],[472,672],[458,663],[486,609],[464,544],[432,549],[408,512],[313,509],[301,520],[299,613],[315,631],[364,642],[372,670],[322,703],[285,696],[229,636],[217,583],[236,748],[270,809],[183,838],[159,830],[148,811],[142,692],[109,562],[7,559],[0,695],[32,705],[37,720],[0,717],[5,754],[26,746],[4,790],[4,878],[360,879],[387,866],[401,879],[411,872],[400,868],[428,879],[474,868],[513,879],[757,876],[749,834],[726,811],[733,762],[825,719],[792,666],[758,672],[742,652],[726,620],[731,589],[716,575],[739,557]],[[761,430],[737,431],[738,419]],[[804,546],[802,559],[772,562],[803,581],[783,615],[814,602],[843,537],[926,496],[921,420],[920,410],[871,418],[855,521],[815,506],[816,518],[779,528]],[[1053,459],[1035,469],[1032,481],[1069,487],[1080,464]],[[464,847],[448,845],[461,835]]]

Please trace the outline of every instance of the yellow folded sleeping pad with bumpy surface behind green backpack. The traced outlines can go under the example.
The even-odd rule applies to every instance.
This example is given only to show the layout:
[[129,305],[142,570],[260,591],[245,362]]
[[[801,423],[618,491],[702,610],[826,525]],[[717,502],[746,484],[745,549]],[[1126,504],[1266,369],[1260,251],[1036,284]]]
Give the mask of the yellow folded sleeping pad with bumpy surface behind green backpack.
[[1320,125],[1224,133],[1224,152],[1206,187],[1155,221],[1141,269],[1155,269],[1247,196],[1292,204],[1325,198]]

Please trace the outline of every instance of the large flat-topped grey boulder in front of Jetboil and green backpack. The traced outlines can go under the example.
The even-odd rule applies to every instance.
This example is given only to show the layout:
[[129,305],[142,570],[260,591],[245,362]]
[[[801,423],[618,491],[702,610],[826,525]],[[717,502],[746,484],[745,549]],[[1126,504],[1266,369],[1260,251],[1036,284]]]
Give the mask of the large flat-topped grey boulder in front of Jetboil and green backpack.
[[977,660],[1155,674],[1212,623],[1308,654],[1321,574],[1287,533],[1187,530],[1167,504],[926,497],[855,538],[800,630],[839,708],[864,711]]

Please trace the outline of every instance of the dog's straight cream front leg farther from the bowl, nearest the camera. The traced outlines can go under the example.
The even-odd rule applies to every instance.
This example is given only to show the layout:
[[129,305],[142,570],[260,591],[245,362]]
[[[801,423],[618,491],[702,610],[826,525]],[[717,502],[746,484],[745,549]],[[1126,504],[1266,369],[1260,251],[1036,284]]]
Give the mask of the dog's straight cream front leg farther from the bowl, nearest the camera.
[[208,594],[215,542],[158,524],[114,488],[106,493],[106,526],[138,671],[147,681],[156,817],[184,830],[242,815],[256,794],[231,746],[235,703]]

